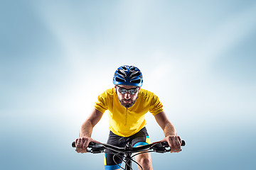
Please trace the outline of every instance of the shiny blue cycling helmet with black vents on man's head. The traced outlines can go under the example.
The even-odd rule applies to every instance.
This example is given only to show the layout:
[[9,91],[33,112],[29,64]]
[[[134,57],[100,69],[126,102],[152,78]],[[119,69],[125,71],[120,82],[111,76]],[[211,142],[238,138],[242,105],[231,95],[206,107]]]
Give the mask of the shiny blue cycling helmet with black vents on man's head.
[[114,72],[114,85],[123,84],[141,87],[142,83],[142,72],[137,67],[123,65]]

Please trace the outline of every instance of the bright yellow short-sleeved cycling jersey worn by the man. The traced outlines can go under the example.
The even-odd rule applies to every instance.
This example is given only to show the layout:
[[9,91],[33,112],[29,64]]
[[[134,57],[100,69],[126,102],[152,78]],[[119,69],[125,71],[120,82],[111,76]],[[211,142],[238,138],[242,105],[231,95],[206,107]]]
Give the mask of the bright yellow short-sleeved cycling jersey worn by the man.
[[110,130],[122,137],[134,135],[144,128],[147,112],[156,115],[164,110],[159,98],[144,89],[139,90],[137,100],[130,108],[121,105],[114,88],[107,89],[97,99],[95,108],[102,113],[108,110]]

